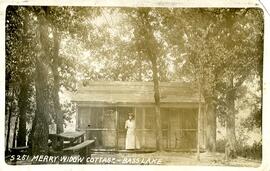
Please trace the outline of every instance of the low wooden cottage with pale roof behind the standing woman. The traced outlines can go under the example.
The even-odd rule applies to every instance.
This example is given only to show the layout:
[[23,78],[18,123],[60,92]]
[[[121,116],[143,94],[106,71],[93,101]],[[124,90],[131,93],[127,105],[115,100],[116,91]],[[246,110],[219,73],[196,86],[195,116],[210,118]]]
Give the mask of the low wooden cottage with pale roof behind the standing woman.
[[[183,83],[160,83],[161,122],[164,148],[195,150],[200,125],[204,145],[204,117],[198,124],[199,95]],[[97,149],[125,148],[125,121],[133,112],[143,150],[156,148],[154,86],[152,82],[90,82],[72,97],[77,104],[76,129],[96,138]],[[202,99],[203,103],[203,99]]]

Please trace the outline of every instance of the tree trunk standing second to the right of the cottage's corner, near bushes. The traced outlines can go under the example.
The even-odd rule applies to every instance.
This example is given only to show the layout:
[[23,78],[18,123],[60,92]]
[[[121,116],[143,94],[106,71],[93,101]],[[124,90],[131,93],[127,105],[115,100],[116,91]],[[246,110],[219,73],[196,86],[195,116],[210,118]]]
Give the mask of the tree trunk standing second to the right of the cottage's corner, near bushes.
[[228,115],[226,118],[226,158],[236,158],[236,136],[235,136],[235,89],[233,89],[233,76],[230,79],[230,91],[227,93]]

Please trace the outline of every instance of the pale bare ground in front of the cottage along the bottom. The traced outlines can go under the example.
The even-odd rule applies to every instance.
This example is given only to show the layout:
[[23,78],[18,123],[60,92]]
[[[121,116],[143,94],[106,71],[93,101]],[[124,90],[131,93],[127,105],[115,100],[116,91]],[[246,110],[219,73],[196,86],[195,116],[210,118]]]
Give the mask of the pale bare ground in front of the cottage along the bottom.
[[[236,166],[236,167],[259,167],[261,165],[261,160],[251,160],[243,157],[237,157],[236,159],[225,161],[224,153],[200,153],[200,160],[197,159],[197,155],[194,152],[152,152],[152,153],[99,152],[92,154],[91,158],[96,159],[96,161],[87,162],[87,164],[112,164],[111,162],[108,162],[108,159],[116,158],[117,160],[113,164],[117,165],[123,164],[155,165],[156,163],[151,163],[155,159],[158,159],[161,162],[159,163],[161,165]],[[12,164],[10,162],[7,163]],[[31,165],[33,163],[31,162],[30,157],[28,161],[17,161],[16,163],[13,164]],[[49,163],[45,162],[40,164],[49,164]],[[52,164],[59,164],[59,162]]]

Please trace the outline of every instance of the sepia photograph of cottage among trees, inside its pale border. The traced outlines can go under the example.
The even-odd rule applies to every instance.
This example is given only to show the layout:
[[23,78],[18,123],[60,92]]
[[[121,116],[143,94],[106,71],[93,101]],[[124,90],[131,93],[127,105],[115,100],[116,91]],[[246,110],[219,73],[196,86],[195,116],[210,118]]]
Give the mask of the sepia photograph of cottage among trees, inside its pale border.
[[264,15],[7,6],[5,163],[260,167]]

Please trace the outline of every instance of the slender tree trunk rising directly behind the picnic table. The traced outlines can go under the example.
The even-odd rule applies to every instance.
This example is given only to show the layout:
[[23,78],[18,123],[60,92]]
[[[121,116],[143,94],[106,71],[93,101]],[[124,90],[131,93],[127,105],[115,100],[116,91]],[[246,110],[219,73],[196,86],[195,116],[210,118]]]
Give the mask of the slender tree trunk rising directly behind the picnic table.
[[60,41],[59,41],[59,33],[55,29],[53,32],[53,37],[54,37],[54,49],[53,49],[53,64],[52,64],[52,72],[53,72],[53,79],[54,79],[54,85],[53,85],[53,104],[54,104],[54,111],[55,111],[55,116],[56,116],[56,133],[62,133],[64,132],[63,128],[63,112],[61,110],[61,105],[59,101],[59,90],[60,90],[60,81],[59,81],[59,72],[58,72],[58,67],[59,67],[59,46],[60,46]]

